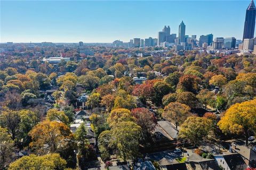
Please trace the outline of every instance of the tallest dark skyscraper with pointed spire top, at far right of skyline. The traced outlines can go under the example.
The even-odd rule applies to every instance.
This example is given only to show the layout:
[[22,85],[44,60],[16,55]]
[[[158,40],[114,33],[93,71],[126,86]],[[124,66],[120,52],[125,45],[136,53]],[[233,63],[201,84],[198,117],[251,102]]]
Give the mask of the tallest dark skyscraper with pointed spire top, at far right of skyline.
[[256,16],[256,7],[252,0],[246,10],[243,40],[254,37],[255,16]]

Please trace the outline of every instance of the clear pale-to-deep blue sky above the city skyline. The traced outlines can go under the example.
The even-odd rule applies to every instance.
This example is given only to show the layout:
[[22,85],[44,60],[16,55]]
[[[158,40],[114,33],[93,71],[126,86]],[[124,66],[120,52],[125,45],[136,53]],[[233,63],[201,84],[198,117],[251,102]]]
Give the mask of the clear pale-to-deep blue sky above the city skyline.
[[250,1],[2,1],[1,43],[109,43],[157,38],[164,25],[186,35],[242,39]]

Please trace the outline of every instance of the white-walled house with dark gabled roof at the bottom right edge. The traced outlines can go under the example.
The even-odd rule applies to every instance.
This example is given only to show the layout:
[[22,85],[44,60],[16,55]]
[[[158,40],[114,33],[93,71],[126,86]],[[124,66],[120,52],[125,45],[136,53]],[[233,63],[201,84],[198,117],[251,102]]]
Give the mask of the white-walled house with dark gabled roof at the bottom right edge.
[[224,170],[245,169],[247,167],[240,154],[214,155],[214,159]]

